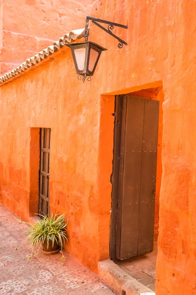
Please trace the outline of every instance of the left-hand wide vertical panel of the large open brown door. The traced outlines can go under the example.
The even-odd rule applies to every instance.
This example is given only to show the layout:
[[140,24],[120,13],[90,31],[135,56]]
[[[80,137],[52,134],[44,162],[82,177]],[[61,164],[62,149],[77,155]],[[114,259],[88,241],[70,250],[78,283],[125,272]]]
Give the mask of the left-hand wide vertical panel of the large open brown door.
[[123,171],[120,171],[123,182],[122,192],[119,192],[122,200],[121,260],[136,256],[138,252],[144,105],[144,98],[127,97]]

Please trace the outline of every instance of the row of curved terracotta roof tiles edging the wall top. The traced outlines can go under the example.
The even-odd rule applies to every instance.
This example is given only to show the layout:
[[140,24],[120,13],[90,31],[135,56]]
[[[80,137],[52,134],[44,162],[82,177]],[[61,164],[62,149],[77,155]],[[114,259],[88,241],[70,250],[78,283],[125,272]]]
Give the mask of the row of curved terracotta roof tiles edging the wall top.
[[26,59],[25,62],[17,66],[12,71],[0,76],[0,86],[2,83],[14,78],[16,75],[21,74],[34,64],[42,61],[43,59],[46,59],[49,55],[52,55],[54,52],[58,51],[59,48],[62,48],[66,43],[70,43],[76,39],[84,37],[84,31],[85,29],[76,29],[70,31],[69,33],[65,34],[64,37],[60,37],[58,41],[53,42],[53,45],[49,46],[43,51],[40,51],[35,56]]

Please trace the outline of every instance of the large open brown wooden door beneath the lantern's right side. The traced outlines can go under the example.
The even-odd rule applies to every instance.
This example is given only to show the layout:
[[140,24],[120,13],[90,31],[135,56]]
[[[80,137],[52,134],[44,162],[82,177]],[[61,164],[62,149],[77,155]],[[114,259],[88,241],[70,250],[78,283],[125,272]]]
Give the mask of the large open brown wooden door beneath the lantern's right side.
[[153,250],[159,102],[127,95],[118,101],[112,232],[115,257],[124,260]]

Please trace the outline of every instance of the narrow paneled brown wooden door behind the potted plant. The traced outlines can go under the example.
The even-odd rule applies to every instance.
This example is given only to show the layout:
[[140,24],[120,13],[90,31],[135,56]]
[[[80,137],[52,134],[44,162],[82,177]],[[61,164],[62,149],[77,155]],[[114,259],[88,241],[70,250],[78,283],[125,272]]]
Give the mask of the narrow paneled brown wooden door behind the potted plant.
[[39,214],[49,214],[50,128],[40,128]]

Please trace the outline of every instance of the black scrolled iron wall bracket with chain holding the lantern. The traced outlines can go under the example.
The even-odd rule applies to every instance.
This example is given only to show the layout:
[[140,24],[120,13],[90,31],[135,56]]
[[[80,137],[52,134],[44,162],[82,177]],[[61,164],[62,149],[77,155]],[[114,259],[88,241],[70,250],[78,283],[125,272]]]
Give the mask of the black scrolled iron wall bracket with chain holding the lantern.
[[[127,43],[125,41],[123,41],[123,39],[119,38],[117,35],[113,34],[113,32],[111,31],[111,29],[114,29],[114,27],[120,27],[123,29],[127,29],[128,28],[127,26],[117,24],[117,23],[112,23],[112,22],[105,21],[105,20],[101,20],[101,19],[98,19],[98,18],[95,18],[92,16],[86,17],[86,27],[85,27],[85,35],[84,35],[85,41],[88,41],[88,36],[89,36],[89,28],[88,28],[89,20],[91,20],[92,23],[95,24],[96,26],[98,26],[100,29],[103,29],[105,32],[107,32],[108,34],[110,34],[111,36],[116,38],[120,42],[118,44],[119,48],[122,48],[123,44],[127,45]],[[99,23],[107,24],[108,25],[107,29],[105,27],[101,26]]]

